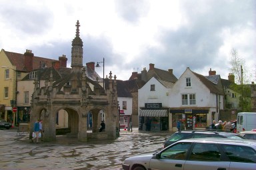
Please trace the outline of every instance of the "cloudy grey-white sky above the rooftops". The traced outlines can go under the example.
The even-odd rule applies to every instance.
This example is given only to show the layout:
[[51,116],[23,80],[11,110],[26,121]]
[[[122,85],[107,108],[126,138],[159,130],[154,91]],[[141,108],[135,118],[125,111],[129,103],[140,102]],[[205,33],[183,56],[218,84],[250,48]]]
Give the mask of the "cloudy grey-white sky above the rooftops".
[[[230,72],[231,50],[256,67],[256,1],[249,0],[1,0],[0,48],[71,64],[71,41],[80,22],[83,64],[105,58],[105,75],[119,80],[132,72],[189,67],[221,78]],[[103,68],[95,68],[103,76]],[[255,81],[255,76],[253,78]]]

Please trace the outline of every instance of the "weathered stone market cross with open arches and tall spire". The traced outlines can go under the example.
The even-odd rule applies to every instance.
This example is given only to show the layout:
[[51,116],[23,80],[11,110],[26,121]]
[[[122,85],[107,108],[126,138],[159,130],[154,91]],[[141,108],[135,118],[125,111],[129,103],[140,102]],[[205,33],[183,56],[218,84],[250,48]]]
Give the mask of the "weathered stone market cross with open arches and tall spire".
[[[59,80],[54,80],[51,70],[45,86],[35,80],[31,100],[31,129],[38,119],[43,120],[44,141],[55,141],[55,121],[59,110],[68,114],[71,132],[67,137],[77,137],[79,141],[89,139],[116,139],[119,131],[116,76],[109,73],[109,86],[104,89],[99,82],[86,75],[83,66],[83,41],[79,37],[77,21],[75,39],[72,41],[71,72]],[[52,68],[54,69],[54,68]],[[92,131],[87,131],[87,115],[93,118]],[[105,120],[105,131],[99,132],[101,120]]]

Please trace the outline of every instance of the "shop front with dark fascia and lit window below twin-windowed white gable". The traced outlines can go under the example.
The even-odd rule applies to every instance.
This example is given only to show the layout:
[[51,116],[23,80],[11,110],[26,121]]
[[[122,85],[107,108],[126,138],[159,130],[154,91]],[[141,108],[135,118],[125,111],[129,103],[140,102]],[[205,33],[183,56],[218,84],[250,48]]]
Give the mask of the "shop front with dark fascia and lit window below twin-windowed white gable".
[[170,109],[172,128],[177,131],[177,122],[182,120],[185,129],[206,128],[209,110],[206,109]]

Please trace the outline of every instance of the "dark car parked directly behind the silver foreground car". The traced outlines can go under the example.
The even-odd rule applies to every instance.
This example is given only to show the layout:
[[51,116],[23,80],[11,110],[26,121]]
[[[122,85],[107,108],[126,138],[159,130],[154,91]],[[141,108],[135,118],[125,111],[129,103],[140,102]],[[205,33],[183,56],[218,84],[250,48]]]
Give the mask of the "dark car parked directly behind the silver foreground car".
[[245,139],[237,133],[231,133],[228,131],[214,131],[214,130],[184,130],[176,131],[171,135],[164,143],[163,147],[167,147],[176,141],[189,138],[202,138],[202,137],[222,137],[231,139]]

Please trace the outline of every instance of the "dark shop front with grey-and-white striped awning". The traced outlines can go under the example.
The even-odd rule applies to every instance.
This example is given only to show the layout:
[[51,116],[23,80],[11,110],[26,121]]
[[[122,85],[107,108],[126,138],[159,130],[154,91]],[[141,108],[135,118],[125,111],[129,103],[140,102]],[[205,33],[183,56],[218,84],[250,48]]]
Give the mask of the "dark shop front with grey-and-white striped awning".
[[163,108],[161,103],[145,103],[145,107],[139,108],[139,131],[168,129],[168,108]]

